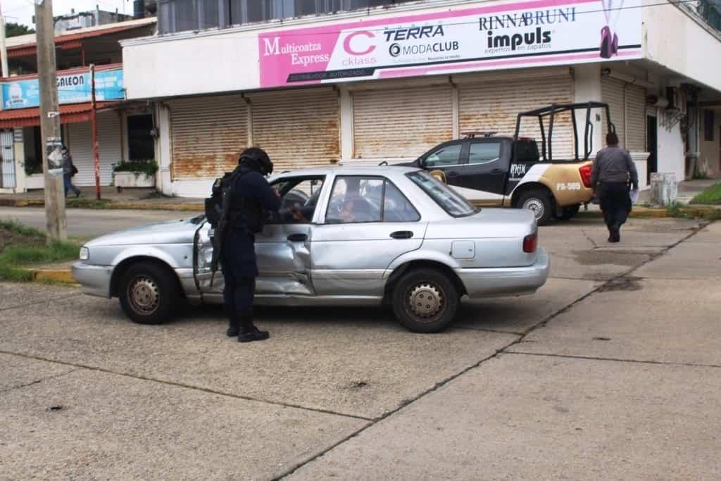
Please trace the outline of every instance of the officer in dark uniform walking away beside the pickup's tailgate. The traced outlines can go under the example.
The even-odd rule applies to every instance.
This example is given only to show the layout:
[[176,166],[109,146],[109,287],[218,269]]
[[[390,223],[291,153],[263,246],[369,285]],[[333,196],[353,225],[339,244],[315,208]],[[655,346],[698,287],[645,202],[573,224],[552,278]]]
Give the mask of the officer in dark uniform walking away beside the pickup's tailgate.
[[609,228],[609,242],[619,242],[621,226],[632,208],[629,184],[638,190],[638,172],[628,151],[619,147],[615,132],[606,135],[606,144],[606,149],[596,154],[590,181],[601,201],[603,220]]

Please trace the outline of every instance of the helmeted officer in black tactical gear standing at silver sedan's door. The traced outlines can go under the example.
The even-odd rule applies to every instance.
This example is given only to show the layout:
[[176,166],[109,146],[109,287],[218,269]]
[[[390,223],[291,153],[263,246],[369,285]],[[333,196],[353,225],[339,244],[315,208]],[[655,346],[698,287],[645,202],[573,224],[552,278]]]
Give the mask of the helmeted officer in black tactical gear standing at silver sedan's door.
[[223,291],[230,319],[228,337],[241,343],[265,340],[267,331],[253,324],[253,297],[258,267],[255,262],[255,234],[262,231],[265,211],[280,209],[280,195],[265,176],[273,172],[273,162],[262,149],[246,149],[238,159],[229,199],[229,227],[223,242],[220,264],[225,278]]

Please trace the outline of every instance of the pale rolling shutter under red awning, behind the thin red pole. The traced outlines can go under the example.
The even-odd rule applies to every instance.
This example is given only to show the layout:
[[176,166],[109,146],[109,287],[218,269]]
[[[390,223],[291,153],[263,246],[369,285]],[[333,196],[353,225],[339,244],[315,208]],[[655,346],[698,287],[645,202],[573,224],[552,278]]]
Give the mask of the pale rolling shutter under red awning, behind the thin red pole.
[[[68,124],[68,148],[78,173],[73,183],[95,185],[95,161],[92,152],[92,129],[89,122]],[[112,185],[112,164],[123,158],[120,143],[120,118],[110,110],[97,113],[97,146],[100,160],[100,185]]]

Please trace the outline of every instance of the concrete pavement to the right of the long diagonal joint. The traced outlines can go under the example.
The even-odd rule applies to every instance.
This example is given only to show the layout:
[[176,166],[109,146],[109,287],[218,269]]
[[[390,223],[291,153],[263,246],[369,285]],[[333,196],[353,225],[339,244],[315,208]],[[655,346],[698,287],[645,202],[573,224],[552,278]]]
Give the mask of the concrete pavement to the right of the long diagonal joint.
[[720,479],[720,242],[607,281],[289,479]]

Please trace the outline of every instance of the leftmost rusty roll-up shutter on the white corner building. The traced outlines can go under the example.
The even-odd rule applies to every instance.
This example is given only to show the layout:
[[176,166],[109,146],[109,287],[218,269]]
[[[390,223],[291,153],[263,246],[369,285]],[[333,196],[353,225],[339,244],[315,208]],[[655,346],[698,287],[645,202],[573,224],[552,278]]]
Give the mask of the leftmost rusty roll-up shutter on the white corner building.
[[248,110],[240,95],[168,102],[173,180],[212,179],[234,169],[248,146]]

